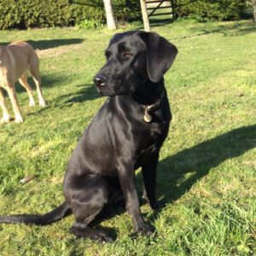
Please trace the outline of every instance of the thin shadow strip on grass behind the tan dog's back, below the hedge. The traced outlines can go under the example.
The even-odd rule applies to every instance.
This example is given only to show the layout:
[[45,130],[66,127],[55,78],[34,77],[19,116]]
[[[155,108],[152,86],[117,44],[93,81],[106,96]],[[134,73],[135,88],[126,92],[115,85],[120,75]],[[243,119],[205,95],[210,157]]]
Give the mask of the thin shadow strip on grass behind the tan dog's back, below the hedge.
[[[26,43],[31,44],[34,49],[49,49],[63,45],[70,44],[81,44],[84,42],[82,38],[61,38],[61,39],[50,39],[50,40],[27,40]],[[1,45],[7,45],[11,42],[4,42]]]

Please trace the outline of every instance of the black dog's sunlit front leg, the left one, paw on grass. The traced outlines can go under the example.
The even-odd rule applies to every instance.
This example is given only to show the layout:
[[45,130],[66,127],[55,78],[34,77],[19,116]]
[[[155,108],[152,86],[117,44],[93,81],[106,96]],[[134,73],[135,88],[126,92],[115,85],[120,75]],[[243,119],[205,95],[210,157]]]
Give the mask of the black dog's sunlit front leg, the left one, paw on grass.
[[129,165],[119,166],[119,182],[125,196],[126,209],[131,215],[134,229],[137,233],[143,233],[149,236],[152,234],[152,228],[148,224],[145,224],[142,212],[140,211],[134,169]]

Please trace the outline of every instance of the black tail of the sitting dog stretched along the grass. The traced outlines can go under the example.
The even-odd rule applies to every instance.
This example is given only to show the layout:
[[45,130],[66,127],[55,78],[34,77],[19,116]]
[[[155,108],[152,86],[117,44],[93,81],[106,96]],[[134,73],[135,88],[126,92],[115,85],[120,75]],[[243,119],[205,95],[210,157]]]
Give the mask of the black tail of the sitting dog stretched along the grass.
[[53,211],[44,215],[20,214],[10,216],[0,216],[0,224],[36,224],[47,225],[52,224],[61,218],[71,214],[71,208],[64,201],[61,206],[56,207]]

